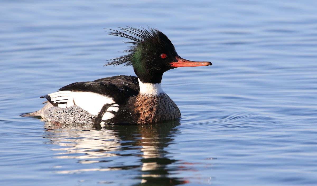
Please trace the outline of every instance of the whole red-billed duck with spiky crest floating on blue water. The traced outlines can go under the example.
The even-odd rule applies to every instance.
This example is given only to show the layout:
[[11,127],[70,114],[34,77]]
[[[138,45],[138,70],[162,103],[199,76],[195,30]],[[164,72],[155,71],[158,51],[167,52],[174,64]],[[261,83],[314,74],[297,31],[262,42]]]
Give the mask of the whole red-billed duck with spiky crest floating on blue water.
[[[175,102],[161,86],[163,73],[178,67],[212,65],[181,58],[168,37],[156,28],[108,29],[108,35],[129,39],[126,55],[105,64],[132,66],[136,76],[113,76],[76,82],[41,96],[43,108],[23,116],[80,124],[150,124],[179,119]],[[45,102],[44,102],[45,103]]]

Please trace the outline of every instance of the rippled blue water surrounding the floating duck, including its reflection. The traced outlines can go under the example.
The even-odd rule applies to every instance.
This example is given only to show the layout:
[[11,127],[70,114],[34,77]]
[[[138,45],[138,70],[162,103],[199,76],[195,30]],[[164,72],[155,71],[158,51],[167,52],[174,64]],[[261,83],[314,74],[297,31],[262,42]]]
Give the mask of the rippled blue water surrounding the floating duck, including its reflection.
[[[316,185],[316,1],[0,3],[1,185]],[[178,54],[162,86],[182,118],[148,126],[55,125],[19,115],[102,67],[153,27]]]

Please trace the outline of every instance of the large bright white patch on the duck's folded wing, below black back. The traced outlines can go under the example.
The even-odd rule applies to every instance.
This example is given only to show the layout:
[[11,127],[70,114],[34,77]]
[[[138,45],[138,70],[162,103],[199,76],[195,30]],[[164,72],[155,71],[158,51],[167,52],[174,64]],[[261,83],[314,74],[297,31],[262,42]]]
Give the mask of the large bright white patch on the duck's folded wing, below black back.
[[105,104],[114,103],[113,99],[94,92],[62,90],[49,94],[51,101],[58,107],[67,108],[77,105],[92,115],[98,115]]

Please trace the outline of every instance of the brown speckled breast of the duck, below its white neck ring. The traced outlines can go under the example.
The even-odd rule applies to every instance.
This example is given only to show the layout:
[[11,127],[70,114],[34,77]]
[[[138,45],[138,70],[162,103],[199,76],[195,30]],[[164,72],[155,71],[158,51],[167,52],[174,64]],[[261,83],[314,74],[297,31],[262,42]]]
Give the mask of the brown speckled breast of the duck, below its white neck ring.
[[136,114],[139,115],[139,124],[173,120],[181,116],[177,105],[166,94],[155,97],[139,94],[134,106]]

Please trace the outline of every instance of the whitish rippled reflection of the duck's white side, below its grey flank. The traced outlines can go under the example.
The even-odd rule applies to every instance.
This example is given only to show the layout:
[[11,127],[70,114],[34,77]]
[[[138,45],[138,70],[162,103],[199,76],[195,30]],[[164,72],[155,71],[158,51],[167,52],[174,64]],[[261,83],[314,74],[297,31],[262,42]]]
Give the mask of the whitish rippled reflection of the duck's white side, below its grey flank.
[[[71,125],[71,124],[69,124]],[[45,122],[45,127],[50,129],[64,129],[74,125],[59,125],[49,121]],[[78,126],[78,125],[76,125]],[[111,130],[87,130],[93,125],[81,125],[82,130],[49,130],[51,133],[48,137],[52,137],[53,144],[59,145],[62,148],[52,149],[53,151],[65,151],[56,153],[55,158],[75,158],[85,159],[80,163],[96,163],[98,159],[105,157],[118,156],[113,151],[120,149],[120,138],[117,137],[114,131]],[[85,130],[86,129],[86,130]]]

